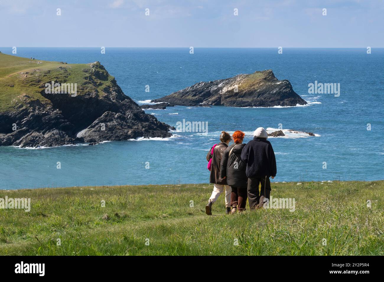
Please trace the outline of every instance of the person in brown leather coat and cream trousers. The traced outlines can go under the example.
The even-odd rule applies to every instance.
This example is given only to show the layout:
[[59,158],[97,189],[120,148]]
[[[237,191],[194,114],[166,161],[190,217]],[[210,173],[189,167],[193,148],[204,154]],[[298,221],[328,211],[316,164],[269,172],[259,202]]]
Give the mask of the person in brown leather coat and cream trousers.
[[229,142],[231,141],[231,135],[228,132],[222,131],[220,134],[220,143],[214,148],[214,153],[211,155],[212,147],[207,154],[207,161],[212,158],[211,173],[209,176],[209,182],[213,183],[214,191],[209,198],[207,206],[205,206],[205,213],[212,214],[212,204],[217,201],[218,197],[225,190],[225,213],[228,214],[231,211],[231,188],[227,185],[227,179],[220,177],[221,159],[225,149],[227,149]]

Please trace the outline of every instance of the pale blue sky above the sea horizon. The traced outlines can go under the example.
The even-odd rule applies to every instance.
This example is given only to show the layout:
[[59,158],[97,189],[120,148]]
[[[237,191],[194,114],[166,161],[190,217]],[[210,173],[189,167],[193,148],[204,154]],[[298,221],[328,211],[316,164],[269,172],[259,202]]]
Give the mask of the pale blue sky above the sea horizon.
[[384,0],[0,0],[0,26],[2,47],[378,48]]

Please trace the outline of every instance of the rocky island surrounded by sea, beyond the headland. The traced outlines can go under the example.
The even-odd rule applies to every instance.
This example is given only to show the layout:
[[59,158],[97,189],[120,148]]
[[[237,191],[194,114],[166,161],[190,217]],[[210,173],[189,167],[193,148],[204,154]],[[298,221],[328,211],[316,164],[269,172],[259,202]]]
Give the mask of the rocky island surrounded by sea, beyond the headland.
[[181,106],[224,105],[231,107],[273,107],[307,104],[288,80],[278,80],[272,70],[239,74],[233,78],[199,82],[152,102]]

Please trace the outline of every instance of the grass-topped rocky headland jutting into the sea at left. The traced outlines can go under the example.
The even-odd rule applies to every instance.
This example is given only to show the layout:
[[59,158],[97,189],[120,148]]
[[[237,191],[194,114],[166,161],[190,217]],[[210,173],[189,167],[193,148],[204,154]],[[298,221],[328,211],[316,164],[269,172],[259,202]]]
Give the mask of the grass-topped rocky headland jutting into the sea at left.
[[[46,91],[46,83],[52,81],[76,83],[76,95]],[[170,137],[168,131],[169,125],[124,95],[99,62],[65,64],[0,53],[2,146],[52,147]]]

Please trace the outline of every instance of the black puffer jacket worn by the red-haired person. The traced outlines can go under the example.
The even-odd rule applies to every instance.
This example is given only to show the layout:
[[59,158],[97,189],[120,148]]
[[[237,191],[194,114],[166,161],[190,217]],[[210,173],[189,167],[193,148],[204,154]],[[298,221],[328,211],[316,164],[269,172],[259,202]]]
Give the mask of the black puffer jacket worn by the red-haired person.
[[[227,176],[227,183],[231,187],[247,187],[248,178],[245,174],[247,165],[240,157],[244,146],[245,143],[229,146],[225,149],[221,159],[220,177],[223,178]],[[229,155],[230,152],[231,155]]]

